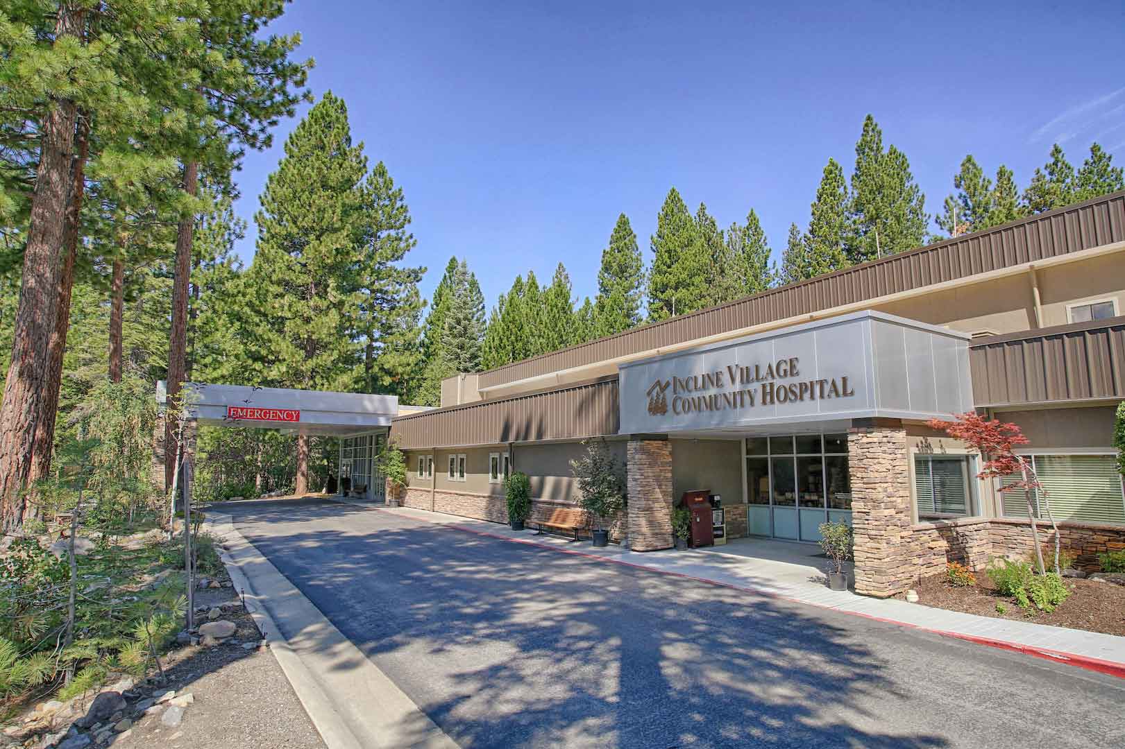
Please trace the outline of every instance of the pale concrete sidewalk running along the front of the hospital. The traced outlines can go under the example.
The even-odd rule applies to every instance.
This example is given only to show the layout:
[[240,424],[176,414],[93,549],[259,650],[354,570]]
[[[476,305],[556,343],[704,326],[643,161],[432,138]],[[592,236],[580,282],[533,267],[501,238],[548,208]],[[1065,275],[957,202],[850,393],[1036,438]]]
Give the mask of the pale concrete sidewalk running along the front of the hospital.
[[[348,502],[348,504],[372,508],[367,503]],[[852,592],[829,590],[822,572],[826,560],[818,559],[804,550],[786,553],[784,547],[795,547],[796,544],[793,543],[762,542],[775,545],[771,550],[775,557],[772,559],[750,556],[738,543],[712,547],[705,550],[632,552],[612,544],[604,549],[595,549],[587,541],[576,543],[558,536],[537,535],[532,530],[512,531],[506,525],[457,515],[407,507],[379,506],[377,509],[471,533],[552,548],[568,553],[580,553],[606,561],[680,575],[739,590],[917,628],[981,644],[1026,652],[1054,661],[1071,662],[1076,666],[1125,678],[1125,638],[964,614],[893,598],[868,598]]]

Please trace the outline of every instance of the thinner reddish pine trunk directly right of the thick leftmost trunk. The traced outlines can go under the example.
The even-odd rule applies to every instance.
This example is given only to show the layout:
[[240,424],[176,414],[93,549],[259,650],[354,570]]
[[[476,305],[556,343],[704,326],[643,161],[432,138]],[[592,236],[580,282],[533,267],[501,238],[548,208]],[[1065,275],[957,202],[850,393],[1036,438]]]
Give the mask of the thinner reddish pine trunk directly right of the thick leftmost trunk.
[[[90,153],[89,116],[78,112],[74,151],[76,156],[71,165],[71,195],[66,205],[66,228],[62,268],[58,271],[58,300],[55,303],[55,326],[47,344],[46,385],[40,401],[40,413],[35,425],[35,446],[32,454],[32,470],[28,482],[34,484],[51,472],[54,455],[55,416],[58,410],[58,389],[63,380],[63,357],[66,353],[66,333],[70,328],[71,292],[74,289],[74,263],[78,260],[78,240],[81,234],[82,199],[86,193],[86,160]],[[34,500],[34,495],[32,496]],[[28,503],[24,515],[37,516],[38,507]]]

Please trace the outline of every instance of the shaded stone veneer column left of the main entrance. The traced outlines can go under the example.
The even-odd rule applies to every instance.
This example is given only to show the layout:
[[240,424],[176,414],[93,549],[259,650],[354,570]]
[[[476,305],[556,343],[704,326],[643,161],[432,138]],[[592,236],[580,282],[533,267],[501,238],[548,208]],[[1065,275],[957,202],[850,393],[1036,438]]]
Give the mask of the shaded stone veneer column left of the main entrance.
[[627,451],[629,548],[672,547],[672,443],[630,440]]

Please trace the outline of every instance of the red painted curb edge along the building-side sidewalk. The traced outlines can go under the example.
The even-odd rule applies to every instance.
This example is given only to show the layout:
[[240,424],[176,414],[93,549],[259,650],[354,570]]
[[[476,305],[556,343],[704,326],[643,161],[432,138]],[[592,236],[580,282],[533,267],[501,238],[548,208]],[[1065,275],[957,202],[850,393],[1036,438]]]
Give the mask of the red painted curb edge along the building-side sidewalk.
[[[430,521],[432,522],[432,521]],[[771,590],[760,590],[757,588],[749,588],[746,586],[735,585],[732,583],[722,583],[720,580],[709,580],[705,577],[696,577],[694,575],[687,575],[685,572],[676,572],[674,570],[656,569],[652,567],[646,567],[645,565],[637,565],[634,562],[628,562],[621,559],[611,559],[609,557],[601,557],[598,554],[587,553],[585,551],[575,551],[573,549],[559,549],[558,547],[539,543],[537,541],[529,541],[526,539],[513,539],[507,535],[501,535],[500,533],[492,533],[489,531],[478,531],[476,529],[466,527],[464,525],[451,525],[448,523],[433,523],[434,525],[441,525],[443,527],[450,527],[454,531],[461,531],[462,533],[472,533],[475,535],[483,535],[490,539],[500,539],[501,541],[508,541],[511,543],[522,543],[529,547],[536,547],[539,549],[547,549],[549,551],[557,551],[564,554],[573,554],[575,557],[585,557],[587,559],[595,559],[597,561],[611,562],[614,565],[621,565],[622,567],[632,567],[633,569],[642,569],[649,572],[657,572],[659,575],[670,575],[673,577],[680,577],[687,580],[694,580],[696,583],[705,583],[708,585],[716,585],[722,588],[730,588],[732,590],[740,590],[742,593],[752,593],[754,595],[767,596],[770,598],[777,598],[778,601],[786,601],[789,603],[796,603],[804,606],[816,606],[817,608],[824,608],[827,611],[835,611],[840,614],[847,614],[849,616],[861,616],[863,619],[870,619],[875,622],[883,622],[885,624],[897,624],[898,626],[909,628],[911,630],[918,630],[919,632],[929,632],[932,634],[939,634],[946,638],[953,638],[955,640],[964,640],[966,642],[973,642],[975,644],[987,646],[989,648],[996,648],[998,650],[1008,650],[1011,652],[1020,652],[1027,656],[1034,656],[1036,658],[1043,658],[1044,660],[1050,660],[1056,664],[1068,664],[1070,666],[1077,666],[1078,668],[1084,668],[1090,671],[1097,671],[1099,674],[1107,674],[1109,676],[1116,676],[1117,678],[1125,679],[1125,664],[1104,660],[1101,658],[1092,658],[1090,656],[1080,656],[1073,652],[1065,652],[1063,650],[1051,650],[1047,648],[1036,648],[1034,646],[1027,646],[1019,642],[1009,642],[1007,640],[994,640],[992,638],[983,638],[975,634],[965,634],[963,632],[950,632],[947,630],[935,630],[928,626],[921,626],[920,624],[911,624],[910,622],[900,622],[894,619],[888,619],[885,616],[875,616],[873,614],[864,614],[862,612],[846,611],[843,608],[836,608],[835,606],[826,606],[825,604],[810,603],[808,601],[801,601],[800,598],[793,598],[791,596],[783,596]]]

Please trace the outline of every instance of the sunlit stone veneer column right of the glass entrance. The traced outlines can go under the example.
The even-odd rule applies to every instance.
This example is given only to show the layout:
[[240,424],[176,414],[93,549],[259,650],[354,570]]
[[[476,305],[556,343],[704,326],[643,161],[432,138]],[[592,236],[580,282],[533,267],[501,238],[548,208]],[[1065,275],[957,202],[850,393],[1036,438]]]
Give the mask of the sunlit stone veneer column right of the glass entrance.
[[855,592],[885,598],[915,577],[910,467],[901,422],[856,419],[848,430]]

